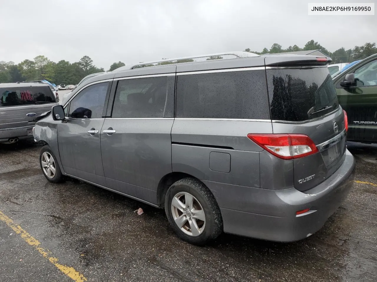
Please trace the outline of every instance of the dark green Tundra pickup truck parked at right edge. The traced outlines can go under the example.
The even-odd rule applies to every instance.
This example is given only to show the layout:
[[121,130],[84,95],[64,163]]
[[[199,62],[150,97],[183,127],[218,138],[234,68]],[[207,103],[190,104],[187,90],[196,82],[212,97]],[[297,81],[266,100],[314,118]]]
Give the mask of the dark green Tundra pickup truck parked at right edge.
[[338,74],[333,82],[348,116],[347,139],[377,143],[377,54]]

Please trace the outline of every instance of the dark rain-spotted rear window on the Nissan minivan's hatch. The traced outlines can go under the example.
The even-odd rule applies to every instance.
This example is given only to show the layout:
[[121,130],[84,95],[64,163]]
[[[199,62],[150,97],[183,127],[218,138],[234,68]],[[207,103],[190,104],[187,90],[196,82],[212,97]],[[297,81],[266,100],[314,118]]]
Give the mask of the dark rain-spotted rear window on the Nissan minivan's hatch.
[[267,70],[272,120],[305,121],[338,108],[326,67]]

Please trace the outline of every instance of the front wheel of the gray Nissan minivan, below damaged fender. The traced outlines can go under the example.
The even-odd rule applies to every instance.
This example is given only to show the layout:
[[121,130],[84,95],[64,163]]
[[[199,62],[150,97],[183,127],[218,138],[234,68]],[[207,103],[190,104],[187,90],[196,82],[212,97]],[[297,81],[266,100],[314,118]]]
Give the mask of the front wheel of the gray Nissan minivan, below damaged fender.
[[39,154],[39,164],[44,177],[49,182],[61,183],[64,182],[64,175],[61,173],[57,159],[52,153],[50,146],[44,145]]

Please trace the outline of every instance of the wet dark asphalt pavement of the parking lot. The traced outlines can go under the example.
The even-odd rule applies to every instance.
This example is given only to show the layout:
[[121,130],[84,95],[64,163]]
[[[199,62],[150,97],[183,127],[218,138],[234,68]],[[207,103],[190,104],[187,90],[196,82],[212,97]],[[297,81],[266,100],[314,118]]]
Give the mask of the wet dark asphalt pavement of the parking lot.
[[377,146],[348,147],[354,188],[319,232],[296,243],[223,234],[198,247],[175,236],[163,210],[83,182],[49,183],[39,144],[0,145],[0,281],[375,282]]

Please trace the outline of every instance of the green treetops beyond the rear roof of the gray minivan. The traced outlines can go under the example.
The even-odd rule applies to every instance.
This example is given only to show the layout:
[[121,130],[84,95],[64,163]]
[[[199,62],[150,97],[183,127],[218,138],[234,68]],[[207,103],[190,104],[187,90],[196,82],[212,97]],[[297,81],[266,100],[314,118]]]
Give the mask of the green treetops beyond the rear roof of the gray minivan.
[[338,63],[350,63],[356,60],[365,59],[368,56],[371,56],[377,53],[377,47],[375,43],[365,43],[362,46],[355,46],[353,49],[345,50],[343,47],[334,51],[329,52],[325,47],[323,47],[318,42],[310,40],[305,44],[303,48],[300,48],[297,45],[289,46],[287,49],[282,49],[282,45],[278,43],[272,44],[270,49],[264,48],[262,52],[251,51],[250,48],[245,49],[246,52],[256,53],[259,55],[262,54],[271,54],[271,53],[282,53],[282,52],[295,52],[295,51],[306,51],[306,50],[321,50],[323,53],[331,57],[333,61],[331,64]]

